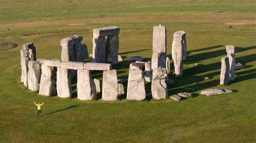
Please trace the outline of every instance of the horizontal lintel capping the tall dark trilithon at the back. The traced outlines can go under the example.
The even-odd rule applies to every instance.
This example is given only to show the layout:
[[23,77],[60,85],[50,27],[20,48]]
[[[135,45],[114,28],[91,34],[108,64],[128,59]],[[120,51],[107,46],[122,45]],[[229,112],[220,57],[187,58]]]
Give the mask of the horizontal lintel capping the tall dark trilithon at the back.
[[117,26],[94,28],[93,29],[93,37],[104,37],[107,35],[118,35],[119,32],[120,32],[120,28]]

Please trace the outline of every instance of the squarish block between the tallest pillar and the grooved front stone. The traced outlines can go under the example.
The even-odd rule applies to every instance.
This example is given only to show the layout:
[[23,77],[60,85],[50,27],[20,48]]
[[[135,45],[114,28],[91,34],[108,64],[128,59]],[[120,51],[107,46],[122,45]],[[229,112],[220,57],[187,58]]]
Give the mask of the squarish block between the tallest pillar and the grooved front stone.
[[151,69],[166,67],[166,54],[164,52],[156,52],[152,54]]

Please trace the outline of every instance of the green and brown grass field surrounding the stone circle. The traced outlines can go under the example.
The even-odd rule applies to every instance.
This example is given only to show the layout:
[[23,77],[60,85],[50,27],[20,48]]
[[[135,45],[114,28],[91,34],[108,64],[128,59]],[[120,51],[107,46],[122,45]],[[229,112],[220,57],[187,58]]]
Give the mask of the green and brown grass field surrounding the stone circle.
[[[15,42],[18,47],[0,52],[0,141],[255,142],[255,6],[254,1],[2,1],[0,42]],[[23,44],[33,42],[38,59],[60,59],[60,40],[78,34],[92,53],[92,29],[103,26],[120,27],[119,54],[124,61],[113,68],[118,78],[127,80],[130,56],[151,58],[153,26],[158,24],[167,28],[170,59],[173,33],[187,33],[184,76],[169,75],[174,81],[169,95],[189,87],[196,97],[156,101],[151,84],[145,83],[145,101],[127,101],[122,95],[118,101],[104,102],[100,94],[97,100],[79,101],[75,79],[74,97],[66,99],[38,95],[21,83]],[[225,45],[236,47],[236,61],[244,68],[235,71],[234,81],[219,85]],[[102,80],[102,72],[92,74]],[[207,88],[235,92],[200,95]],[[43,117],[37,117],[33,101],[45,102]]]

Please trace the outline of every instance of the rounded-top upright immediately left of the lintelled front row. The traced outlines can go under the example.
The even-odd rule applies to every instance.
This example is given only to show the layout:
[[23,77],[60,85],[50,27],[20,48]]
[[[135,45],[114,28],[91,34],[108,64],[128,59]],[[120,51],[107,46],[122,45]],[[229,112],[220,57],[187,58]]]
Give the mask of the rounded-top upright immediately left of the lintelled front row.
[[38,91],[41,78],[40,64],[37,61],[29,61],[28,68],[28,88]]

